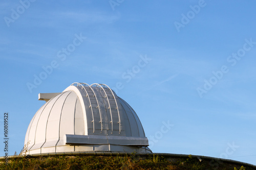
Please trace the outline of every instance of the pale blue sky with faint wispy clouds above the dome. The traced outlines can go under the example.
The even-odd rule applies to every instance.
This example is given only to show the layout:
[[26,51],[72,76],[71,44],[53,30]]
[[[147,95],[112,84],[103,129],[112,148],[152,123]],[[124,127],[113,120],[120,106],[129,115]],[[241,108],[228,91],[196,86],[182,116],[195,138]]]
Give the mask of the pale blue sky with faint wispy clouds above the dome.
[[[19,153],[38,93],[103,83],[155,153],[256,165],[256,2],[0,2],[0,124]],[[4,143],[0,142],[4,156]],[[2,148],[2,149],[1,149]]]

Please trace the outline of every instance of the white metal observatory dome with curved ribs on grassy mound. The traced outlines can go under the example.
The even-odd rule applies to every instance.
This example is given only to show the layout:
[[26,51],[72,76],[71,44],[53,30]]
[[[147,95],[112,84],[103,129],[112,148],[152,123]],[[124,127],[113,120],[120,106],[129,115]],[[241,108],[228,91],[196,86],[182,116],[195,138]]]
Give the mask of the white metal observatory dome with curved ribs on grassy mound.
[[73,83],[38,97],[46,103],[29,124],[22,154],[151,153],[139,117],[107,85]]

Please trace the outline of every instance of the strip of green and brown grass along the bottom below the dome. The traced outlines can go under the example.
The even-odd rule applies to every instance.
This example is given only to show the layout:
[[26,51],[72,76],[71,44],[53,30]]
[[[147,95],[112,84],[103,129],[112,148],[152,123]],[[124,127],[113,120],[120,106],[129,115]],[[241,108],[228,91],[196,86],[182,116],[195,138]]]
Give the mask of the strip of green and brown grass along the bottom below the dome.
[[[220,164],[213,166],[209,161],[197,158],[170,158],[153,156],[52,156],[10,159],[8,164],[1,160],[0,169],[245,169],[241,165]],[[250,170],[251,168],[246,168]]]

